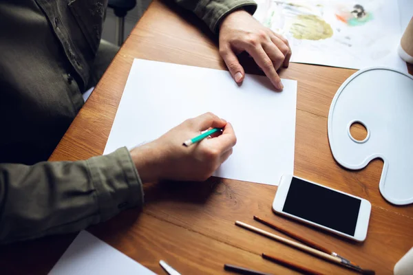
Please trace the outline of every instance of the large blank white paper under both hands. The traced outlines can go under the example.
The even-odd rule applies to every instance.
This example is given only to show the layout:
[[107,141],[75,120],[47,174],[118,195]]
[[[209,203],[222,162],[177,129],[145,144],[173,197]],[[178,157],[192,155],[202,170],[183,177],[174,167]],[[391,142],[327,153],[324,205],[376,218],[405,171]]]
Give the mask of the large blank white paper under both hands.
[[211,111],[237,135],[233,155],[215,175],[277,185],[294,168],[297,81],[282,82],[277,92],[266,77],[247,74],[238,87],[226,71],[136,59],[104,153],[155,140]]

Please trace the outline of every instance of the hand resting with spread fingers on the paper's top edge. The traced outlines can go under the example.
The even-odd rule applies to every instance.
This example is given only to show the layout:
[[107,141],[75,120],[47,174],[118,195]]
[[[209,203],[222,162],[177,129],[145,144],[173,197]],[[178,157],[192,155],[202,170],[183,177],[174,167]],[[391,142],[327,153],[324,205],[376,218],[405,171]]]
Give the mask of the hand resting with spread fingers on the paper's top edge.
[[244,51],[254,58],[275,88],[284,88],[277,69],[282,65],[288,67],[290,62],[288,41],[265,28],[248,12],[237,10],[220,25],[220,54],[237,83],[242,82],[245,73],[236,55]]

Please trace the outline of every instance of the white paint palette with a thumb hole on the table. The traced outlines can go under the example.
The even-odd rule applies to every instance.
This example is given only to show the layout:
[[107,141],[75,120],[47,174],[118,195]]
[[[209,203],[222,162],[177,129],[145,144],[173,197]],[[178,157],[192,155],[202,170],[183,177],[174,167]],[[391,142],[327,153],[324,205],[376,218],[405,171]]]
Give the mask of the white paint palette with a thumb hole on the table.
[[[350,134],[354,122],[364,140]],[[383,159],[381,195],[390,203],[413,203],[413,77],[385,67],[362,69],[341,85],[328,114],[332,155],[342,166],[361,169]]]

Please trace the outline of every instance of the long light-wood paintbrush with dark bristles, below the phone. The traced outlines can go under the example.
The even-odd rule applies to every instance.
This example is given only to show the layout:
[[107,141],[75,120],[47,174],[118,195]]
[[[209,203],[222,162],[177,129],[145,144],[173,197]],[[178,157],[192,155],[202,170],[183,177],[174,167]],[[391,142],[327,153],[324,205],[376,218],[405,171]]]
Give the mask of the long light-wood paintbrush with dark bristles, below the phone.
[[243,223],[242,221],[235,221],[235,225],[238,225],[242,228],[248,229],[252,232],[255,232],[257,234],[260,234],[262,236],[266,236],[269,239],[273,239],[275,241],[279,241],[280,243],[284,243],[286,245],[290,245],[293,248],[297,248],[298,250],[307,252],[308,254],[312,254],[314,256],[318,256],[321,259],[324,259],[326,261],[330,261],[332,263],[336,263],[337,265],[341,265],[343,267],[348,267],[352,270],[356,270],[358,272],[360,272],[361,274],[374,274],[373,270],[363,270],[361,267],[356,266],[356,265],[352,265],[351,263],[347,263],[346,261],[344,261],[343,259],[336,257],[336,256],[332,256],[330,254],[327,254],[326,252],[322,252],[319,250],[316,250],[314,248],[310,248],[307,245],[304,245],[302,243],[297,243],[296,241],[291,241],[289,239],[283,238],[282,236],[278,236],[276,234],[267,232],[265,230],[262,230],[260,228],[256,228],[253,225],[249,225],[247,223]]

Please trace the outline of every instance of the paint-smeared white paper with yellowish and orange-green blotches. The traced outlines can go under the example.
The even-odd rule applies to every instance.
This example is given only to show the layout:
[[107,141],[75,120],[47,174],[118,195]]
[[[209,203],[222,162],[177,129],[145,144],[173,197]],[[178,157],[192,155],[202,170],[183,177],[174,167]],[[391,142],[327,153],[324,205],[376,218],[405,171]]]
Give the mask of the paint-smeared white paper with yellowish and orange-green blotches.
[[401,37],[395,0],[258,0],[255,18],[282,34],[292,62],[407,70],[396,54]]

